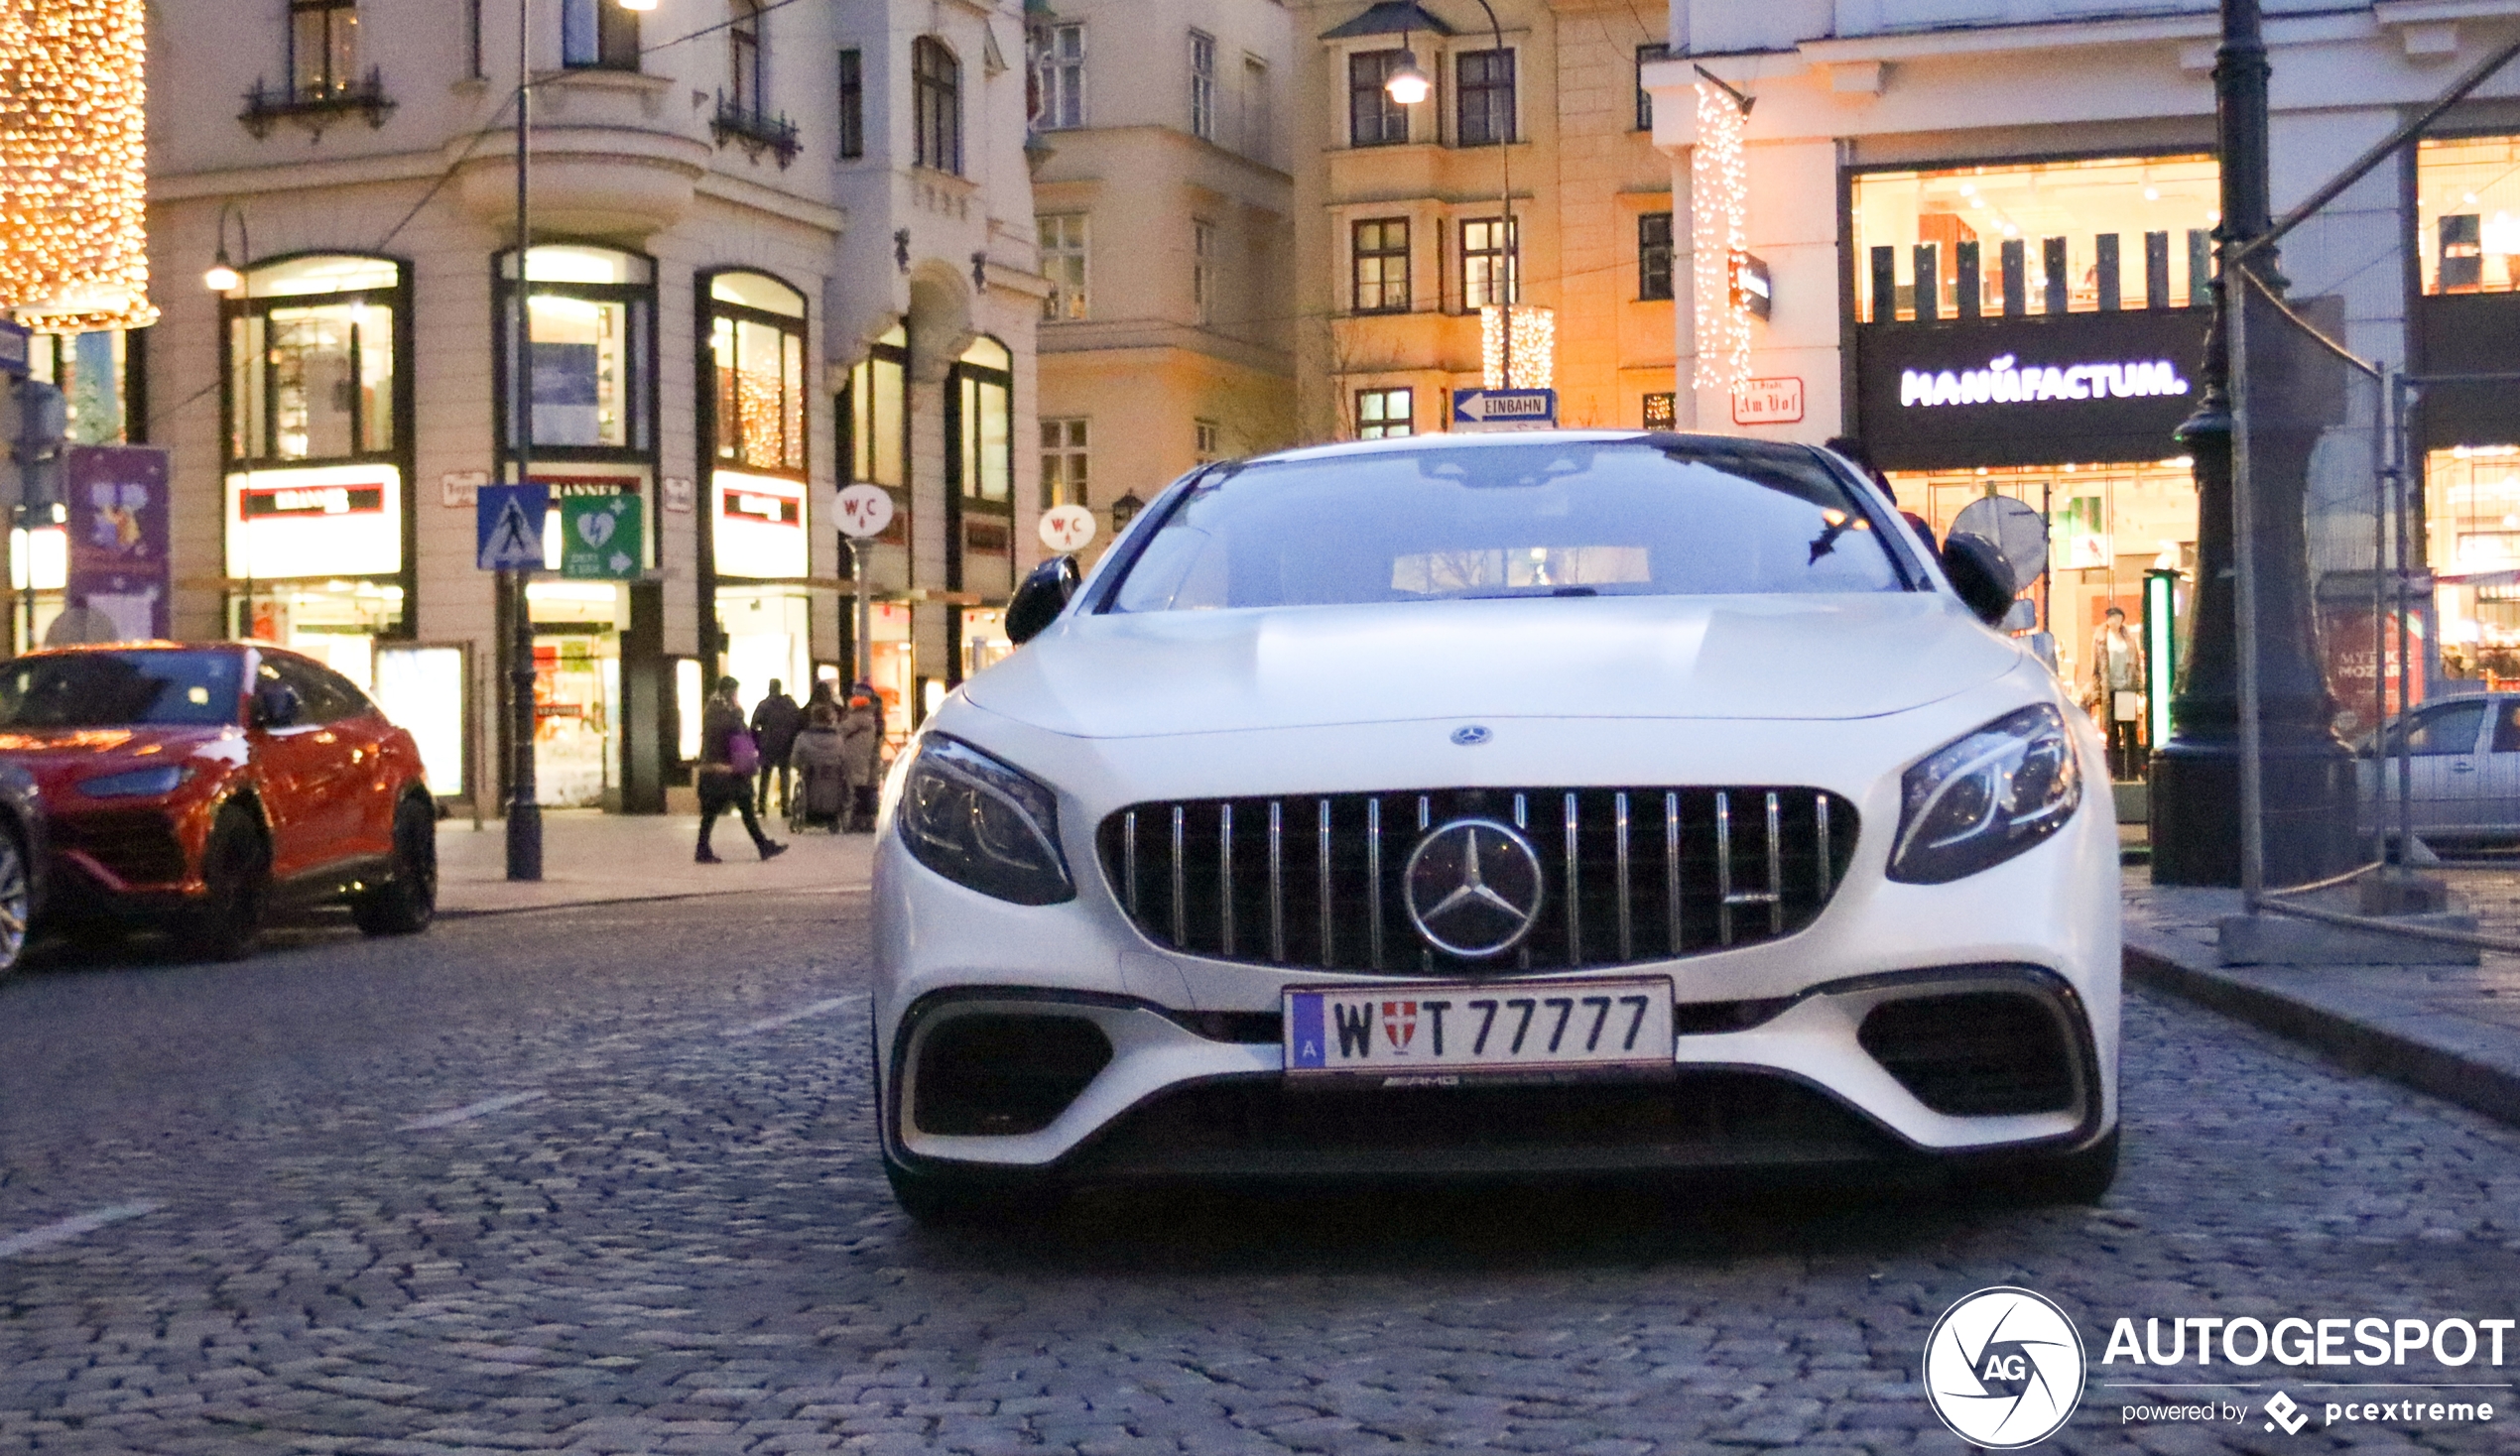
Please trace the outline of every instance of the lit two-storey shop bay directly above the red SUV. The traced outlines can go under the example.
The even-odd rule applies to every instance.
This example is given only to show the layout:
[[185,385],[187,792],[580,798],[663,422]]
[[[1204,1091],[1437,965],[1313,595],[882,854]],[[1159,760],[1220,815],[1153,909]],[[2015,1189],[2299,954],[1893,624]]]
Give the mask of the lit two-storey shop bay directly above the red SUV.
[[242,272],[219,320],[227,630],[373,690],[413,589],[408,275],[280,257]]

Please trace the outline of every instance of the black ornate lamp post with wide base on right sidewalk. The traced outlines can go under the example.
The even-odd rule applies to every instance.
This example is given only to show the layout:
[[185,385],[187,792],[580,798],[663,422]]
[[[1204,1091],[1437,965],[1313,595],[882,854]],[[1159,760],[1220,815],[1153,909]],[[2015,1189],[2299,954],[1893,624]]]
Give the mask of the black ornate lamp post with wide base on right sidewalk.
[[[2265,38],[2258,0],[2223,0],[2215,121],[2223,224],[2215,257],[2233,259],[2271,229]],[[2243,267],[2281,292],[2273,249]],[[2152,756],[2155,884],[2240,884],[2240,632],[2233,529],[2230,317],[2245,287],[2215,267],[2215,322],[2205,345],[2202,401],[2177,441],[2195,458],[2195,640],[2170,700],[2170,741]],[[2255,320],[2258,315],[2253,315]],[[2268,317],[2273,335],[2273,320]],[[2273,338],[2268,340],[2273,345]],[[2303,491],[2316,426],[2308,401],[2286,398],[2278,370],[2250,370],[2250,567],[2255,572],[2258,733],[2265,799],[2265,884],[2301,884],[2344,869],[2354,836],[2354,763],[2334,731],[2336,705],[2318,665],[2311,612]]]

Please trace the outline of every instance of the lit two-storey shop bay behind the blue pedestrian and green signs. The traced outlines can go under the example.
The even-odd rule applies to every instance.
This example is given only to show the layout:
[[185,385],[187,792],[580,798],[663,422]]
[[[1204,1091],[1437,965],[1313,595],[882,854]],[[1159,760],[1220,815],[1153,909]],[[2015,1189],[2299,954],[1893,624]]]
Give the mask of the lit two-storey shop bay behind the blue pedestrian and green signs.
[[[534,796],[547,806],[660,811],[675,725],[655,572],[655,262],[542,244],[524,272],[529,461],[552,501],[544,569],[524,589],[534,620]],[[514,252],[499,254],[496,292],[499,317],[514,327]],[[514,448],[504,348],[494,378],[499,431]],[[620,532],[607,542],[635,539],[633,552],[607,579],[570,579],[572,506],[597,501],[622,504],[612,516],[625,524],[602,524]]]

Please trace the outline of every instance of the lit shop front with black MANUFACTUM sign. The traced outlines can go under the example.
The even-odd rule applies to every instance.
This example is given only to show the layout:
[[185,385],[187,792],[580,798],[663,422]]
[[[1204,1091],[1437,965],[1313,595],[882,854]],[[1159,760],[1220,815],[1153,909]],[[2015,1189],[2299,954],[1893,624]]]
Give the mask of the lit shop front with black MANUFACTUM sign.
[[2031,592],[2056,668],[2092,678],[2104,612],[2195,567],[2195,411],[2210,317],[2210,156],[1857,171],[1855,428],[1935,534],[1981,496],[2049,519]]

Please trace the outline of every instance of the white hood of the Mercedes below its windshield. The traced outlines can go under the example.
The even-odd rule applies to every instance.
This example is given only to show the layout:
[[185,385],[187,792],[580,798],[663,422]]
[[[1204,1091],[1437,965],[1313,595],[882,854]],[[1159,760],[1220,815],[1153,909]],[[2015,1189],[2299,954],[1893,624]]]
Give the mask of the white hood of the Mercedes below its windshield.
[[1935,592],[1061,617],[965,695],[1081,738],[1426,718],[1877,718],[2021,647]]

